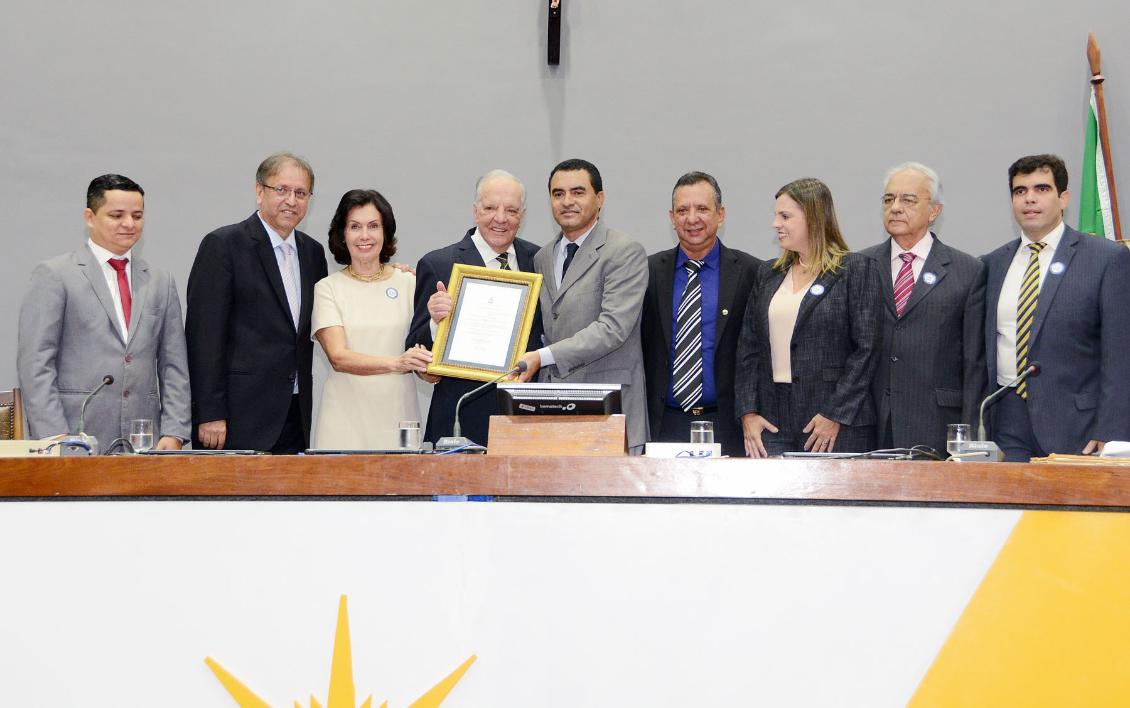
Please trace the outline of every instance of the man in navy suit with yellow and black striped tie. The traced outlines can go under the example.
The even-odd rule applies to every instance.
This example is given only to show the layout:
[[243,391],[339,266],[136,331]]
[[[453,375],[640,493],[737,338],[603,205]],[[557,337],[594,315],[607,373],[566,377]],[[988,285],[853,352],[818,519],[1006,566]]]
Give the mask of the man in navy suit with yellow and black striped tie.
[[1130,252],[1063,224],[1067,180],[1054,155],[1014,163],[1008,181],[1023,236],[982,259],[989,384],[1041,365],[992,408],[991,437],[1010,462],[1130,439]]

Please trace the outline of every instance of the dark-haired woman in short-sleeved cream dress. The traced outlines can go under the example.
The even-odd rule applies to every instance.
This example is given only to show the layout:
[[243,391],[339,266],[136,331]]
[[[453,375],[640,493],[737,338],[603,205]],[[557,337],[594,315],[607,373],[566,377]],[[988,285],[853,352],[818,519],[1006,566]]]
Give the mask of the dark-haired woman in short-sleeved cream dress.
[[386,265],[395,234],[392,207],[373,190],[346,192],[330,221],[330,252],[345,268],[314,286],[311,329],[333,367],[314,447],[394,448],[399,422],[420,419],[412,374],[432,353],[403,348],[416,277]]

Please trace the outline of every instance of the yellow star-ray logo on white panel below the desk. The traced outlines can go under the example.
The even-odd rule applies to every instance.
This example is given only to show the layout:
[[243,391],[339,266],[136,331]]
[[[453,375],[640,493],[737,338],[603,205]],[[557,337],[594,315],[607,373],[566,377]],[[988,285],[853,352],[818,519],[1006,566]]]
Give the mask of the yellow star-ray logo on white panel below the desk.
[[[432,687],[424,696],[417,698],[408,708],[438,708],[440,703],[447,698],[447,693],[455,688],[459,680],[463,678],[467,670],[471,667],[477,657],[472,654],[466,662],[447,674],[447,676]],[[212,670],[219,682],[224,684],[227,692],[232,694],[240,708],[270,708],[270,705],[254,694],[254,692],[233,676],[226,668],[220,666],[216,659],[208,656],[205,664]],[[341,596],[338,603],[338,630],[333,637],[333,662],[330,668],[330,693],[325,699],[325,708],[356,708],[354,682],[353,682],[353,649],[349,645],[349,614],[346,611],[346,596]],[[302,702],[294,701],[295,708],[302,708]],[[372,708],[373,697],[370,696],[360,708]],[[381,703],[381,708],[388,708],[389,701]],[[310,708],[322,708],[322,705],[311,696]]]

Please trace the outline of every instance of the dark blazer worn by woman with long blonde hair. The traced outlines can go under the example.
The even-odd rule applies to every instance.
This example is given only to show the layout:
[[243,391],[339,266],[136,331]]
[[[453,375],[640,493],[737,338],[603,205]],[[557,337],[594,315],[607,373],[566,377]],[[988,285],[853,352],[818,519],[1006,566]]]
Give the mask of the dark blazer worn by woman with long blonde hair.
[[788,271],[763,268],[754,282],[738,340],[736,413],[760,413],[799,432],[816,413],[842,426],[873,426],[871,378],[879,353],[883,283],[879,266],[859,253],[844,256],[800,301],[792,332],[793,419],[777,413],[770,351],[770,300]]

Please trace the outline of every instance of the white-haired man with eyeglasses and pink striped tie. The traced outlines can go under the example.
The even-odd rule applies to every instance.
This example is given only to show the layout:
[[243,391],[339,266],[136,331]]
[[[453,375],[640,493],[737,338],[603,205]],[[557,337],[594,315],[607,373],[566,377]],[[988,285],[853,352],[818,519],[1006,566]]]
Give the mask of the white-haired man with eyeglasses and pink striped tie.
[[935,171],[893,167],[881,201],[890,238],[863,251],[886,276],[871,387],[879,446],[945,451],[946,426],[976,425],[984,394],[984,266],[930,231],[942,202]]

